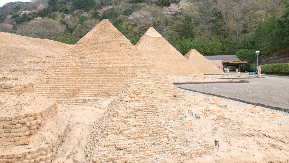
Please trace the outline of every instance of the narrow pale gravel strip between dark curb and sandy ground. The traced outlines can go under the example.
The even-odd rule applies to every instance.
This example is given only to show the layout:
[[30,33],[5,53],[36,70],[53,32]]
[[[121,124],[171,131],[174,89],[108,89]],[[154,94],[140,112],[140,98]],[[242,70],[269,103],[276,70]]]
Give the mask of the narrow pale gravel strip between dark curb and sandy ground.
[[[184,89],[181,89],[181,88],[179,88],[179,89],[180,89],[181,91],[183,91],[183,92],[189,92],[189,93],[193,93],[193,94],[196,94],[196,95],[202,95],[202,96],[206,96],[206,97],[216,97],[216,96],[206,95],[206,94],[199,93],[199,92],[184,90]],[[231,99],[225,99],[225,98],[221,98],[221,97],[216,97],[216,98],[221,99],[222,101],[233,102],[233,103],[239,104],[239,105],[245,105],[245,106],[252,105],[252,104],[246,104],[246,103],[243,103],[243,102],[234,101],[234,100],[231,100]],[[284,111],[275,110],[275,109],[270,109],[270,108],[267,108],[267,107],[261,107],[261,108],[262,108],[264,111],[272,111],[272,112],[281,113],[281,114],[284,114],[284,115],[286,115],[286,116],[289,116],[289,113],[286,113],[286,112],[284,112]]]

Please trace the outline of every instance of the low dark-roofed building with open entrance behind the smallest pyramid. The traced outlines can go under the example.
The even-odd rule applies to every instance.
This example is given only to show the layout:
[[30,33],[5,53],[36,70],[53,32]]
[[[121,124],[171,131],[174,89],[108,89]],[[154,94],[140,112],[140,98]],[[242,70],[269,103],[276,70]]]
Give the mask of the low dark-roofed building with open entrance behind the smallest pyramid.
[[[241,64],[248,63],[247,61],[241,61],[235,55],[229,56],[204,56],[208,60],[221,60],[223,63],[223,69],[230,72],[241,72]],[[224,71],[225,72],[225,71]]]

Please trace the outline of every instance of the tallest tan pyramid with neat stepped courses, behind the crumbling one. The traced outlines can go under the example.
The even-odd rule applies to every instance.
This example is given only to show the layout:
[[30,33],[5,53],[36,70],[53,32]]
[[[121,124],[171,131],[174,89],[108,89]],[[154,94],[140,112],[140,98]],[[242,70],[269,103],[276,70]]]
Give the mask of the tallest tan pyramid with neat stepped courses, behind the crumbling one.
[[153,78],[161,83],[166,97],[183,97],[182,92],[156,66],[104,19],[48,68],[37,79],[34,89],[58,103],[95,101],[119,94],[123,84],[140,68],[153,74]]

